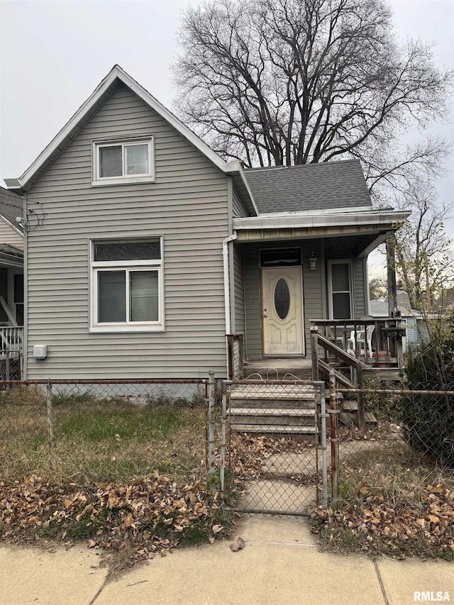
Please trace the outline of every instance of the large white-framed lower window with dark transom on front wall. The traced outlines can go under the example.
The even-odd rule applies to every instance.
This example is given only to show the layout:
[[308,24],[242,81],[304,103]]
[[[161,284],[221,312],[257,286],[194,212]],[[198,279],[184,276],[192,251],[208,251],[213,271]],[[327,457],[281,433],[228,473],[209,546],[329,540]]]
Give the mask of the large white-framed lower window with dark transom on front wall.
[[91,332],[162,332],[162,238],[93,240]]

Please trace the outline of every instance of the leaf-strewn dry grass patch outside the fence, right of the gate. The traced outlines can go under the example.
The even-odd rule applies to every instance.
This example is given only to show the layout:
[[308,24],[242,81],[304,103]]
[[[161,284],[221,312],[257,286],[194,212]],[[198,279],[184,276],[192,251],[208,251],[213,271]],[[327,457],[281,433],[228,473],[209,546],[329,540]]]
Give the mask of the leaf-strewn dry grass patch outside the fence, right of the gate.
[[319,509],[323,548],[454,560],[454,473],[394,441],[345,457],[340,501]]

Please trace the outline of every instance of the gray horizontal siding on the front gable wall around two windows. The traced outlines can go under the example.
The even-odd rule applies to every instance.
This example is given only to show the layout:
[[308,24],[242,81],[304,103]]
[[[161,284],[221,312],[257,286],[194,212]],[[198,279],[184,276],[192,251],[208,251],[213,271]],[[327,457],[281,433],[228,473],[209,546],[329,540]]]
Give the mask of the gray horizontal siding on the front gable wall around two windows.
[[[92,187],[92,140],[155,137],[155,183]],[[227,179],[121,85],[27,196],[28,378],[226,375]],[[165,332],[89,333],[89,240],[162,235]],[[33,359],[33,345],[48,359]]]

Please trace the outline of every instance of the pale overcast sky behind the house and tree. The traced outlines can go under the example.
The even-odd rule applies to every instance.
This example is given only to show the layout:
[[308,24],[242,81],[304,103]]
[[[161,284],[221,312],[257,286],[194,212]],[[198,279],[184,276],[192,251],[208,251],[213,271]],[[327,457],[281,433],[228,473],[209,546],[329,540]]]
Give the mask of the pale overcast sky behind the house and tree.
[[[0,177],[20,177],[118,63],[165,106],[184,7],[198,1],[1,0]],[[454,67],[454,0],[393,0],[402,38],[433,41],[438,65]],[[450,125],[433,130],[454,140]],[[438,183],[454,199],[453,157]],[[4,185],[3,182],[1,182]],[[454,218],[448,231],[454,235]]]

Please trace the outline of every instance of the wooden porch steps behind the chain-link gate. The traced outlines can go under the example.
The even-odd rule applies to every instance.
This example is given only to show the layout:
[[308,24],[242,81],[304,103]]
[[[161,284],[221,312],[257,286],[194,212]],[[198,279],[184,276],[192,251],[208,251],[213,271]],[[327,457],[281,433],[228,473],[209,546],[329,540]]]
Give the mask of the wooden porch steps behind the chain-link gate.
[[231,428],[240,433],[314,435],[315,393],[308,384],[234,384]]

